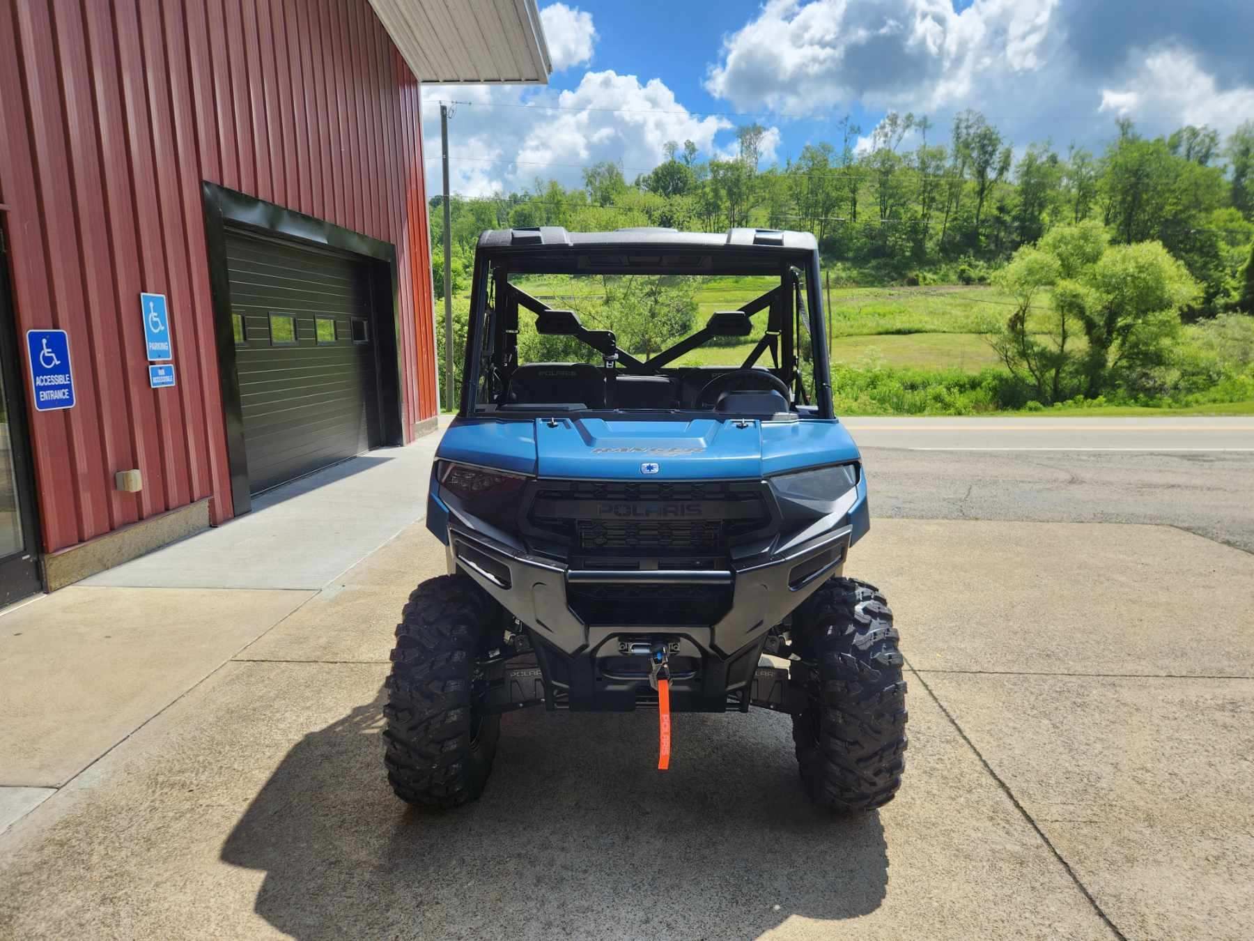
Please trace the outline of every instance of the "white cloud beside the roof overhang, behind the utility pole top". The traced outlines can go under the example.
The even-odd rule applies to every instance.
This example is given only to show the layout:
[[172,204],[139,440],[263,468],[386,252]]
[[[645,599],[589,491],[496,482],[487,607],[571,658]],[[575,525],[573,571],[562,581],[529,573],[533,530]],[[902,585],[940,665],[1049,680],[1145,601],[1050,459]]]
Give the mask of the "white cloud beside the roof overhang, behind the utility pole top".
[[[423,89],[426,176],[439,192],[439,102],[459,100],[449,123],[450,186],[465,196],[525,189],[537,177],[581,182],[582,167],[613,161],[628,181],[665,159],[667,141],[692,141],[716,152],[715,137],[731,128],[719,117],[688,112],[660,79],[641,82],[613,70],[588,72],[577,88],[554,94],[518,87]],[[767,159],[779,143],[775,130]],[[434,157],[434,159],[433,159]],[[433,188],[434,184],[434,188]]]

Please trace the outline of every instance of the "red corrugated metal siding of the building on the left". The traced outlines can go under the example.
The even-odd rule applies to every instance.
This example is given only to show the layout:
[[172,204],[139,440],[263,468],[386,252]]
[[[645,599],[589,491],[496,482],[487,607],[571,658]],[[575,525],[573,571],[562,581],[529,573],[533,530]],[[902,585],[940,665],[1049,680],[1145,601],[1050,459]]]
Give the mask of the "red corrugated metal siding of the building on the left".
[[[69,331],[79,396],[33,417],[45,551],[206,496],[231,516],[201,179],[395,243],[406,439],[435,413],[419,85],[366,0],[5,3],[0,89],[19,324]],[[168,296],[176,389],[148,388],[140,291]]]

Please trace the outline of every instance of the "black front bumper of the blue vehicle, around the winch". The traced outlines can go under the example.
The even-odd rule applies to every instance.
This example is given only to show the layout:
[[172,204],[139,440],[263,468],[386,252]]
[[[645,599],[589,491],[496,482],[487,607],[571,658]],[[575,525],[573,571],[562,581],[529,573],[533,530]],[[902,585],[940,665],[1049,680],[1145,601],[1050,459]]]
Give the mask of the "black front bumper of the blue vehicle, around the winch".
[[[722,711],[729,698],[747,703],[749,685],[771,627],[788,617],[824,581],[840,572],[853,537],[844,524],[765,560],[725,571],[572,570],[559,562],[519,552],[483,532],[472,532],[454,517],[448,522],[449,553],[458,568],[530,629],[549,705],[623,710],[648,698],[647,675],[623,671],[614,655],[623,637],[666,637],[677,660],[693,664],[691,675],[671,683],[676,710]],[[586,625],[567,602],[572,585],[631,585],[641,605],[657,585],[726,585],[732,602],[726,615],[703,626],[667,624],[660,607],[656,624],[638,619],[622,625]],[[744,695],[741,695],[744,694]]]

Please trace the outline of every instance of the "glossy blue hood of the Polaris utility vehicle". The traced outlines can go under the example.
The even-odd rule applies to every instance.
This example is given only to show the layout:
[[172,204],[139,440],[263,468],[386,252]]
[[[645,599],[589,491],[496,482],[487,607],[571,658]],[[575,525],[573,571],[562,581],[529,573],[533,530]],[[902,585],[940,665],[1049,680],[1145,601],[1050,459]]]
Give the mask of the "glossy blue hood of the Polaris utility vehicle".
[[599,481],[761,479],[858,459],[838,420],[458,419],[440,458],[542,478]]

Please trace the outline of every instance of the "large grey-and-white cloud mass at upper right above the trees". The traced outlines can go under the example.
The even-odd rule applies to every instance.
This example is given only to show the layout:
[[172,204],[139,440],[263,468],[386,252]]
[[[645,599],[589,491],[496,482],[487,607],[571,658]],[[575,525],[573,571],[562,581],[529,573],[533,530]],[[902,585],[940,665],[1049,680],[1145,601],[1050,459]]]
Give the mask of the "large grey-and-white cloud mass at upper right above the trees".
[[[1147,133],[1251,117],[1254,4],[1199,18],[1178,0],[767,0],[727,35],[706,89],[739,109],[861,107],[944,125],[983,110],[1020,143],[1093,143],[1115,115]],[[1230,8],[1230,9],[1229,9]],[[1152,40],[1152,41],[1150,41]]]

